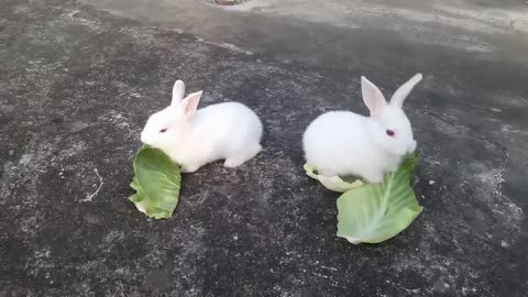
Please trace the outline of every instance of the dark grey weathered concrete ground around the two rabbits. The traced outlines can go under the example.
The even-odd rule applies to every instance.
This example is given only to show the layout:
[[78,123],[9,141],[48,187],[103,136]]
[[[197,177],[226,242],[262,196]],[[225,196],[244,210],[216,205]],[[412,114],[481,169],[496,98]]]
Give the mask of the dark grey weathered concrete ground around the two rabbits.
[[[526,296],[528,4],[521,0],[0,2],[0,296]],[[407,100],[425,210],[396,238],[336,237],[302,173],[359,78]],[[173,218],[127,200],[176,78],[239,100],[265,150],[184,176]]]

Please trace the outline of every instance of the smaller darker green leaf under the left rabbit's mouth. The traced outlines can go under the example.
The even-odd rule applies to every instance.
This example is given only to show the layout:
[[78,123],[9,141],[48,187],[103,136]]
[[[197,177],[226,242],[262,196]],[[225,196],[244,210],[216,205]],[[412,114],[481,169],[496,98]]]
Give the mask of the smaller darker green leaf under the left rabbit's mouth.
[[179,166],[162,151],[142,146],[136,153],[134,178],[130,186],[136,194],[129,197],[138,210],[150,218],[167,219],[178,205],[182,175]]

